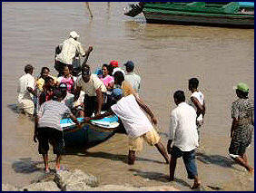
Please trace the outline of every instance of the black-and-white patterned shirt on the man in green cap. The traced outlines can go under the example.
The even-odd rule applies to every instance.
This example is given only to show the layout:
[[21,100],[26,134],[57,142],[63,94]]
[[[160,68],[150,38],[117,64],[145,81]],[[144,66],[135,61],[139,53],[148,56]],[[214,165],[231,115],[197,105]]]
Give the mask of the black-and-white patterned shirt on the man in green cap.
[[235,128],[232,139],[249,145],[254,130],[254,101],[238,99],[232,102],[231,118],[238,120],[238,127]]

